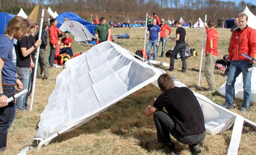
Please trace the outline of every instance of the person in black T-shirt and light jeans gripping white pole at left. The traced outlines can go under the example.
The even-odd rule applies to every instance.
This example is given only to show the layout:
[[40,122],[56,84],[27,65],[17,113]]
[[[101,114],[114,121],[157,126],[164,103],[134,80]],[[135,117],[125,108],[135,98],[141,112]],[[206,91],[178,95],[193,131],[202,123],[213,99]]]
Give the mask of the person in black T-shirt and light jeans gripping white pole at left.
[[[30,91],[31,87],[31,72],[35,67],[35,63],[32,61],[31,53],[41,45],[42,41],[30,39],[30,35],[35,33],[35,22],[29,20],[30,28],[21,40],[18,40],[16,57],[17,57],[17,74],[20,77],[20,81],[23,83],[23,89]],[[33,38],[34,39],[34,38]],[[21,91],[22,91],[21,90]],[[16,99],[16,109],[24,111],[28,108],[28,93],[24,93]]]

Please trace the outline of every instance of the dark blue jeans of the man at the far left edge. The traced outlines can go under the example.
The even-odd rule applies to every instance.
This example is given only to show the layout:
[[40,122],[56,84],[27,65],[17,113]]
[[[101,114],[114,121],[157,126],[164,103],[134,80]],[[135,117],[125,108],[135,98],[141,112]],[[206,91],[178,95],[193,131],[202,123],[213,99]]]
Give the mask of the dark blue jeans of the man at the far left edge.
[[[15,94],[14,86],[3,85],[4,95],[12,97]],[[0,149],[6,147],[8,129],[16,116],[15,100],[8,103],[7,106],[0,108]]]

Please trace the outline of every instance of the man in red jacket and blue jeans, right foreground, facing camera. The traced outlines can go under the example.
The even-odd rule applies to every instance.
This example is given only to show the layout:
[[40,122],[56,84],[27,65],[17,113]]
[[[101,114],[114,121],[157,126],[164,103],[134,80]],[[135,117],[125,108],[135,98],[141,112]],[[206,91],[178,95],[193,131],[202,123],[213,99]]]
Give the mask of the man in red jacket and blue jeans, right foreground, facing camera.
[[248,15],[244,13],[238,14],[239,28],[232,35],[228,50],[229,72],[226,82],[225,108],[234,108],[234,93],[236,77],[242,72],[244,99],[241,112],[248,110],[251,97],[251,77],[253,70],[253,62],[248,60],[242,53],[255,58],[256,53],[256,31],[247,25]]

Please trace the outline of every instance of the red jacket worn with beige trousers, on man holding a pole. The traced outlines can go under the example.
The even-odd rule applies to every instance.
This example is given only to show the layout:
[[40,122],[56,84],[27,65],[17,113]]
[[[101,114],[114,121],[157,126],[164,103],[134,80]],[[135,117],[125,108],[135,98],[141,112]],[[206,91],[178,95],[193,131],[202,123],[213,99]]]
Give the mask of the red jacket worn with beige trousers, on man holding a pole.
[[219,55],[218,49],[218,40],[219,40],[219,34],[216,31],[216,29],[206,27],[206,45],[205,45],[205,54],[206,55]]

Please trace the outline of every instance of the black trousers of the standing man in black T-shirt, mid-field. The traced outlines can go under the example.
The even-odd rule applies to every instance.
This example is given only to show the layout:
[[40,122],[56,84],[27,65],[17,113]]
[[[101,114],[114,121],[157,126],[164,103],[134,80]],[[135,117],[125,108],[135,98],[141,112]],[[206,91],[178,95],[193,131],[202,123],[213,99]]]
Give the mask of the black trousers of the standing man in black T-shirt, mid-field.
[[173,53],[170,57],[170,70],[174,70],[174,59],[179,52],[181,52],[182,70],[186,70],[185,43],[178,44],[174,47]]

